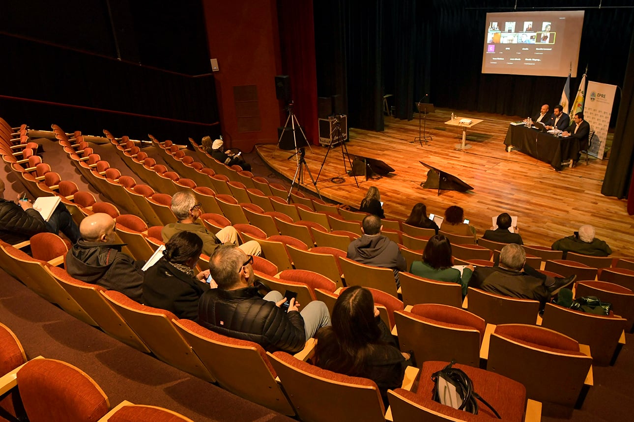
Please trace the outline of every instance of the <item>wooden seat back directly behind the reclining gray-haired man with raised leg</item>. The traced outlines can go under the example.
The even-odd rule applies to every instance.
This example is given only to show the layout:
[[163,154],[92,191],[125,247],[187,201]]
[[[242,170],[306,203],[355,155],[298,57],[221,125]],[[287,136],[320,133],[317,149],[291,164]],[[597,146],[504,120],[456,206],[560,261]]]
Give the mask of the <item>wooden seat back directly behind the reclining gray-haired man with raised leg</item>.
[[467,289],[467,310],[476,314],[488,324],[531,324],[537,322],[540,302],[496,295],[484,290]]

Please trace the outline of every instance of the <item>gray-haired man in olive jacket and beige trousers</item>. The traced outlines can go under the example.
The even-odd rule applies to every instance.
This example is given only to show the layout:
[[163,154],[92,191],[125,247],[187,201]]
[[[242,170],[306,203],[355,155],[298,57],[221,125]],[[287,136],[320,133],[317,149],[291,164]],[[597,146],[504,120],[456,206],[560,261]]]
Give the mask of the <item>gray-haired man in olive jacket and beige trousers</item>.
[[[215,235],[196,221],[202,215],[200,202],[191,190],[181,190],[172,196],[172,213],[178,218],[178,223],[170,223],[161,230],[161,237],[167,242],[178,232],[193,232],[203,241],[202,253],[211,256],[221,244],[238,245],[238,232],[232,226],[227,226]],[[240,245],[245,254],[261,254],[260,245],[255,240],[249,240]]]

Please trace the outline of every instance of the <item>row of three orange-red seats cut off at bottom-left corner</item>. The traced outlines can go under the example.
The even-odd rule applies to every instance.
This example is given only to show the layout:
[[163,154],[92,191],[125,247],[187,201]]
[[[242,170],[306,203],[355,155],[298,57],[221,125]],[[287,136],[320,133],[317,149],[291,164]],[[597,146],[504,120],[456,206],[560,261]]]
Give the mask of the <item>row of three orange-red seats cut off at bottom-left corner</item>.
[[27,360],[20,340],[2,323],[0,376],[0,416],[34,422],[193,422],[169,409],[127,400],[111,409],[107,395],[81,369],[42,356]]

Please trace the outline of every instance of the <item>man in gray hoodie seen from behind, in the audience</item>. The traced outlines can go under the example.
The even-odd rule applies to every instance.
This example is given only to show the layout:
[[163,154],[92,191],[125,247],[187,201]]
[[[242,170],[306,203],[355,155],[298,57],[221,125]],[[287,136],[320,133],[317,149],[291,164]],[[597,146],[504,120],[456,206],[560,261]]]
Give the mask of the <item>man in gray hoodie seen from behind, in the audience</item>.
[[361,223],[363,236],[353,240],[348,246],[347,258],[361,264],[391,268],[394,271],[394,281],[398,288],[400,287],[398,273],[407,270],[407,264],[398,249],[398,245],[382,235],[382,229],[383,225],[378,216],[366,216]]

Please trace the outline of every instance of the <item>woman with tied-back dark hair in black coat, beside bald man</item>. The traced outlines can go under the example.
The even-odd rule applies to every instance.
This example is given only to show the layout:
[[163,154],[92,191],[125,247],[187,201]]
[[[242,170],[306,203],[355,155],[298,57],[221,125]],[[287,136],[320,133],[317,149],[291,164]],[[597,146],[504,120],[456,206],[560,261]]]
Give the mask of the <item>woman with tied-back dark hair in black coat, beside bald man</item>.
[[209,284],[198,280],[194,271],[200,251],[202,239],[195,233],[173,235],[163,257],[143,274],[143,303],[197,321],[198,299],[209,290]]

